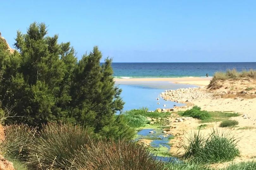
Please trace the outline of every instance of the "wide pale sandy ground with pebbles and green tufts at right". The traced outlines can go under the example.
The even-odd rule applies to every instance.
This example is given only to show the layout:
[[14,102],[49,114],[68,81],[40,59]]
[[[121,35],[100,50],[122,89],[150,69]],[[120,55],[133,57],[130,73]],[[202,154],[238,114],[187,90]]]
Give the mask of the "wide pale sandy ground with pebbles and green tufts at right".
[[[184,82],[184,81],[183,81]],[[189,82],[189,81],[188,81]],[[189,82],[189,83],[193,83]],[[251,160],[256,156],[256,116],[255,110],[256,102],[255,94],[255,81],[226,81],[223,82],[223,87],[217,90],[209,90],[207,88],[190,88],[190,89],[178,89],[168,91],[162,94],[162,97],[171,101],[179,101],[186,103],[186,106],[176,107],[175,111],[184,111],[191,109],[193,105],[201,107],[202,110],[207,111],[221,111],[221,112],[233,112],[239,113],[238,117],[230,117],[232,120],[236,120],[239,124],[235,127],[219,127],[220,122],[210,122],[207,124],[207,128],[201,129],[201,133],[207,136],[211,133],[212,128],[218,129],[218,131],[231,132],[235,138],[239,139],[238,146],[241,151],[241,157],[235,161]],[[248,91],[247,88],[252,88]],[[245,95],[241,95],[245,93]],[[229,97],[229,95],[231,95]],[[189,102],[186,102],[189,101]],[[174,122],[175,118],[171,120],[172,126],[177,126],[177,129],[173,129],[175,137],[170,143],[174,143],[171,148],[171,152],[176,152],[181,143],[186,139],[184,131],[190,133],[191,131],[197,131],[198,126],[201,123],[198,119],[190,119],[184,122]]]

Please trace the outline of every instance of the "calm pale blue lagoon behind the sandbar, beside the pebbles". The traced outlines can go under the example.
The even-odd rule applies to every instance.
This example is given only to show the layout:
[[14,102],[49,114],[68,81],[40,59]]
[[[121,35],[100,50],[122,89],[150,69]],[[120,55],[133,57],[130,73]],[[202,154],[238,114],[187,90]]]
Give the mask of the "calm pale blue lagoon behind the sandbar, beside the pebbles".
[[[197,86],[173,84],[169,82],[142,82],[131,85],[121,84],[119,87],[123,90],[121,97],[125,101],[124,110],[140,109],[142,107],[147,107],[149,110],[156,110],[157,108],[173,108],[173,105],[184,105],[163,100],[159,97],[159,94],[164,92],[164,90]],[[159,100],[156,100],[156,98],[159,98]],[[158,105],[157,103],[160,104]],[[166,107],[163,107],[163,105],[166,105]]]

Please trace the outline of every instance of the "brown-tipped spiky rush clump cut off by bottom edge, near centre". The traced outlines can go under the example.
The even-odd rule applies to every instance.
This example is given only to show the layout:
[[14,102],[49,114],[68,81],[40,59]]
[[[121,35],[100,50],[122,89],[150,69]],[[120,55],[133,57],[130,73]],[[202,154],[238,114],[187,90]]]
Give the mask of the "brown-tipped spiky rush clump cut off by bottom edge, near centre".
[[74,166],[77,170],[164,169],[164,163],[156,161],[148,148],[126,141],[101,141],[90,148],[82,148]]

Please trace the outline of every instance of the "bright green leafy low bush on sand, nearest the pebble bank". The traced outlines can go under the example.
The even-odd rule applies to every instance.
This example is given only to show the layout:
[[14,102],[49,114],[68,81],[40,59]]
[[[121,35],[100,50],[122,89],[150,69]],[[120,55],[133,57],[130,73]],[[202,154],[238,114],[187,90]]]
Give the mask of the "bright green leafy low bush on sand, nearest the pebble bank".
[[186,110],[181,114],[181,116],[188,116],[201,120],[209,119],[211,117],[207,111],[201,110],[198,106],[194,106],[192,109]]

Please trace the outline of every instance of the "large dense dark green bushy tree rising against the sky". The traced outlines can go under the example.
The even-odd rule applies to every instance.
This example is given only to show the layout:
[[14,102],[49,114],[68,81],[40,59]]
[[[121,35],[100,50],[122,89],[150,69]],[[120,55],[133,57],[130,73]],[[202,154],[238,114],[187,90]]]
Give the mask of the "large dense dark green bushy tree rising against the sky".
[[112,59],[101,65],[97,46],[77,61],[70,43],[47,36],[44,23],[32,23],[26,34],[17,31],[15,41],[14,54],[0,46],[0,101],[2,108],[12,108],[8,121],[41,126],[61,120],[104,134],[124,130],[117,124],[125,120],[115,116],[124,102]]

